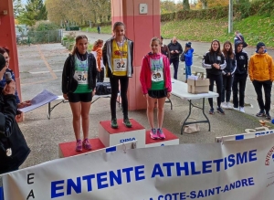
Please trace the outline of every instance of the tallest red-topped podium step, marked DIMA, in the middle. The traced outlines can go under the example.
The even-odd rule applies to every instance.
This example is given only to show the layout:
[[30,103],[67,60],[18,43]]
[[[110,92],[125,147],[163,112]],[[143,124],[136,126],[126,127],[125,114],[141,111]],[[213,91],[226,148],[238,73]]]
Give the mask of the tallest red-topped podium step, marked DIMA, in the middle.
[[111,128],[111,121],[100,121],[99,138],[106,146],[114,146],[123,142],[137,141],[137,148],[145,147],[145,128],[137,121],[131,119],[132,128],[126,127],[122,119],[117,120],[118,129]]

